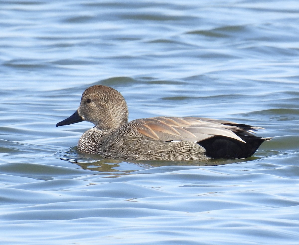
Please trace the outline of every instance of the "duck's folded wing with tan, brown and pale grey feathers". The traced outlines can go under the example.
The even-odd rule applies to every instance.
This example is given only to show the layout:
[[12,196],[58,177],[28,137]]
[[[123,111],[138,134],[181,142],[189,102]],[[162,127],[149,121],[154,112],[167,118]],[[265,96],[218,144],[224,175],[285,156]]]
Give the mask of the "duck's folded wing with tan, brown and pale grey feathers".
[[252,131],[259,127],[230,121],[200,117],[151,117],[129,123],[140,134],[155,140],[199,142],[215,136],[224,136],[244,142],[234,132]]

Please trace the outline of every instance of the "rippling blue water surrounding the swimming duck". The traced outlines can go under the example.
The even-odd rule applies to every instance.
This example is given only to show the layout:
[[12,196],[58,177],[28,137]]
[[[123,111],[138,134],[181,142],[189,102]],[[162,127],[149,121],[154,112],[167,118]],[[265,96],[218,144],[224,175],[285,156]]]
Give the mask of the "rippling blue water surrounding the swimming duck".
[[[1,244],[298,244],[298,1],[2,1]],[[124,162],[56,128],[89,86],[129,119],[266,128],[253,157]]]

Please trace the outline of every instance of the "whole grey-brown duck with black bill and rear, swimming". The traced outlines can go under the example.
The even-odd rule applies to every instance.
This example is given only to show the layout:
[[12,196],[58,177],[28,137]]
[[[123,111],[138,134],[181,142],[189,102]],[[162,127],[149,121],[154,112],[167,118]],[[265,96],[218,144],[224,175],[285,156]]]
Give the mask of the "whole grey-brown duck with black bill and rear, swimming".
[[128,106],[114,88],[94,85],[81,97],[77,111],[56,126],[87,121],[78,151],[118,160],[204,161],[251,157],[271,138],[261,127],[202,117],[150,117],[128,121]]

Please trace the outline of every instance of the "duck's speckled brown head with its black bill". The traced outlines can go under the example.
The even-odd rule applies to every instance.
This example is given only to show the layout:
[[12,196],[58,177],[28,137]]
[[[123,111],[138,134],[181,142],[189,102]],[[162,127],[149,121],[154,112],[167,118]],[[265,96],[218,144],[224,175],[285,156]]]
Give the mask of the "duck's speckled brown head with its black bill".
[[94,85],[87,88],[73,115],[56,127],[87,121],[97,128],[115,130],[128,122],[128,107],[123,96],[113,88]]

